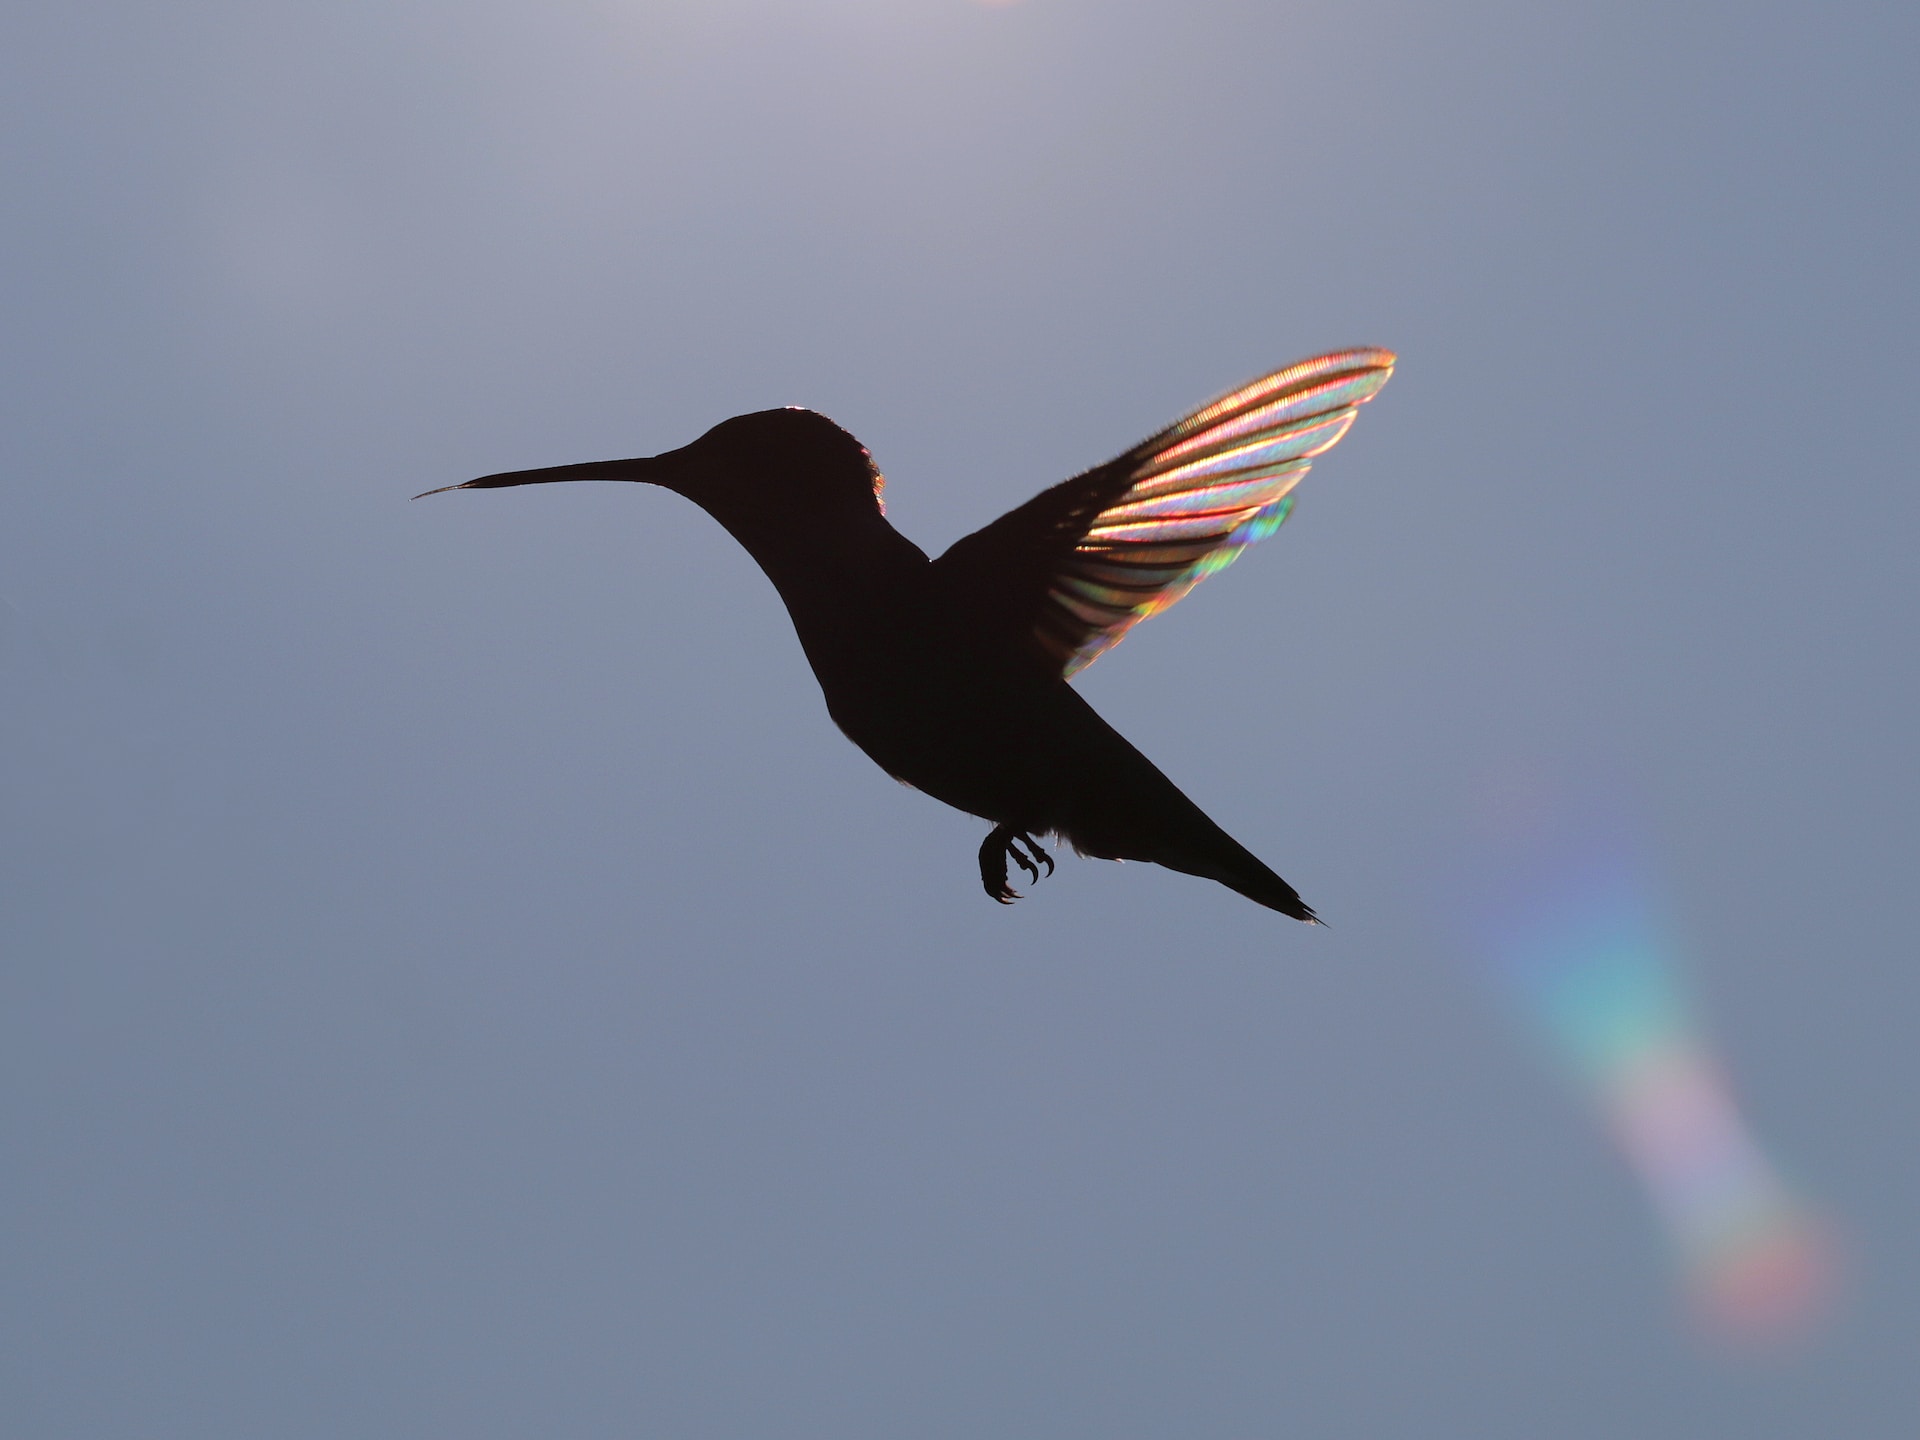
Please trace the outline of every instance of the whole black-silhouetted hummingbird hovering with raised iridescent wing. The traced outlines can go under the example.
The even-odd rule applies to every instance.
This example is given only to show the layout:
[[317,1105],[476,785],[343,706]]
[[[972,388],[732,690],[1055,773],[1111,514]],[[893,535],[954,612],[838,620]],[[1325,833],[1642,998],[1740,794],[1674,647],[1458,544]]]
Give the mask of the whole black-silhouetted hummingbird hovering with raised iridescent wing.
[[[1342,349],[1256,380],[937,561],[887,524],[866,449],[806,409],[722,420],[632,461],[509,470],[444,490],[641,480],[712,515],[787,603],[828,712],[881,770],[993,822],[979,877],[1016,899],[1052,856],[1152,860],[1294,920],[1315,914],[1121,739],[1068,678],[1286,518],[1292,488],[1394,372]],[[438,490],[426,492],[442,493]]]

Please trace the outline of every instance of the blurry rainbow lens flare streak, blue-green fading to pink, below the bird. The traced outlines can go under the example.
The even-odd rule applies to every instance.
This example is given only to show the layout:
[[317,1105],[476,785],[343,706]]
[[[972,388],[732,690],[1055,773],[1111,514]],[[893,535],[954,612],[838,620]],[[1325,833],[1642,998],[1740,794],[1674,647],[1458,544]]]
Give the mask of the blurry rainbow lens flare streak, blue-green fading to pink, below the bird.
[[1534,851],[1513,876],[1530,883],[1496,908],[1494,956],[1645,1185],[1699,1323],[1736,1342],[1791,1338],[1832,1298],[1828,1227],[1747,1133],[1626,854]]

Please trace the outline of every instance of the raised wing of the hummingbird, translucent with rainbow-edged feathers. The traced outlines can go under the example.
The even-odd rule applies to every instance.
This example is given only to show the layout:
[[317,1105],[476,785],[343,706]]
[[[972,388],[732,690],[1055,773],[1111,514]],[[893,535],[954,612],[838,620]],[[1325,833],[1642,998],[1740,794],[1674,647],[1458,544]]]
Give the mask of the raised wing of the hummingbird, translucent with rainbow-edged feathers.
[[1394,372],[1340,349],[1261,376],[956,541],[935,570],[989,630],[1085,670],[1292,509],[1292,488]]

